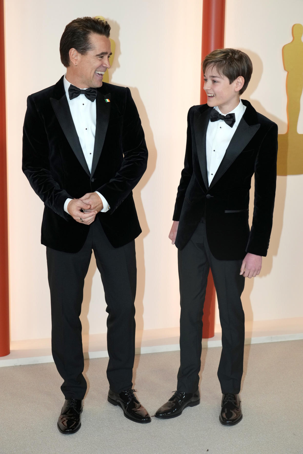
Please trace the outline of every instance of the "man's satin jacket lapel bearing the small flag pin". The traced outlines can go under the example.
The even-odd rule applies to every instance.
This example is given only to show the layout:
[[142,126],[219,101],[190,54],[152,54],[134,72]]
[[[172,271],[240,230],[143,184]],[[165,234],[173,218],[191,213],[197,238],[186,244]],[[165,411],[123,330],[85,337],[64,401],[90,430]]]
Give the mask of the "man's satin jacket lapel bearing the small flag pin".
[[[106,102],[105,99],[109,99],[109,102]],[[104,144],[104,139],[109,124],[109,114],[110,114],[110,93],[108,94],[97,94],[96,98],[96,134],[94,137],[94,155],[93,163],[91,168],[91,175],[94,175],[96,170],[101,151]]]

